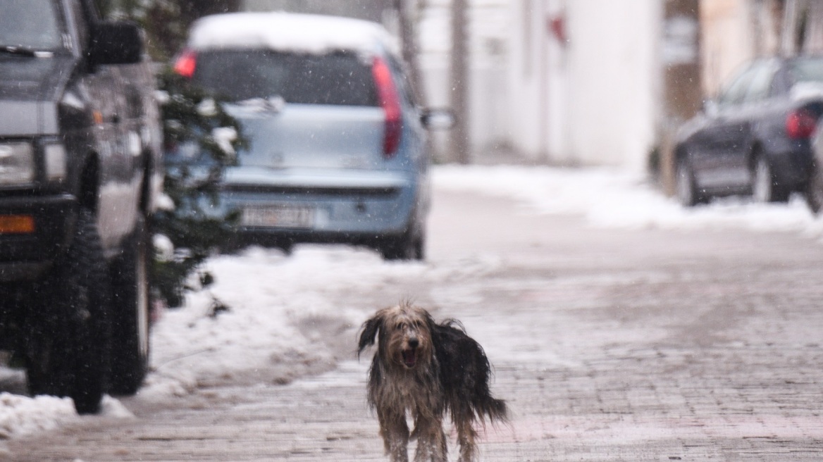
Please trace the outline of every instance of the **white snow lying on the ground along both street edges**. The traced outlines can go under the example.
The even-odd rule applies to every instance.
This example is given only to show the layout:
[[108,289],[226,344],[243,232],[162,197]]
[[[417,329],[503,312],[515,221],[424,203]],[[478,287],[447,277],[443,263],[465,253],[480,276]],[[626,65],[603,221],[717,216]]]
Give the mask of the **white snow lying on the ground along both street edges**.
[[[812,216],[798,197],[788,205],[758,205],[732,197],[685,210],[638,174],[614,169],[444,165],[435,167],[433,182],[439,190],[513,198],[525,213],[584,215],[596,227],[736,227],[823,237],[823,220]],[[337,294],[388,290],[398,278],[471,277],[498,264],[481,256],[436,264],[384,262],[375,252],[319,246],[297,247],[291,256],[261,248],[216,256],[207,263],[216,284],[191,293],[184,307],[165,311],[156,322],[152,372],[141,399],[184,395],[255,370],[265,371],[267,380],[277,383],[330,370],[354,353],[334,344],[335,331],[356,329],[374,309],[341,305]],[[213,316],[213,298],[230,310]],[[21,372],[0,367],[0,440],[80,419],[69,400],[29,398],[4,385],[20,383],[21,377]],[[104,413],[131,417],[109,397]]]

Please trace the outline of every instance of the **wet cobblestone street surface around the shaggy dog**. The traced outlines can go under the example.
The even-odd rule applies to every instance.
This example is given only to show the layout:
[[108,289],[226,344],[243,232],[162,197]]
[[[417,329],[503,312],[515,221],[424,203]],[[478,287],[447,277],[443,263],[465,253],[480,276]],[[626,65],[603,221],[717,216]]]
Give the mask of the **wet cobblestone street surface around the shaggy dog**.
[[[439,192],[429,260],[497,259],[475,279],[340,289],[456,317],[486,349],[508,427],[481,460],[823,458],[823,245],[797,233],[594,229],[512,202]],[[388,299],[387,299],[388,297]],[[8,442],[7,460],[388,460],[365,403],[358,326],[336,370],[287,385],[123,400],[131,419]],[[454,439],[450,460],[455,460]],[[0,452],[0,460],[3,460]]]

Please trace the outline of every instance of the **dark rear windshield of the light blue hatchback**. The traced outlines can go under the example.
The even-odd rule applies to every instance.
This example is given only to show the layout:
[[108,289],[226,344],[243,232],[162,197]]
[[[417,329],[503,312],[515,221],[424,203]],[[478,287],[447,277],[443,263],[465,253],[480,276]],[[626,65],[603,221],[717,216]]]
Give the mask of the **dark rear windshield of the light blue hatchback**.
[[198,53],[193,79],[233,101],[280,96],[295,104],[378,105],[370,62],[356,53],[213,50]]

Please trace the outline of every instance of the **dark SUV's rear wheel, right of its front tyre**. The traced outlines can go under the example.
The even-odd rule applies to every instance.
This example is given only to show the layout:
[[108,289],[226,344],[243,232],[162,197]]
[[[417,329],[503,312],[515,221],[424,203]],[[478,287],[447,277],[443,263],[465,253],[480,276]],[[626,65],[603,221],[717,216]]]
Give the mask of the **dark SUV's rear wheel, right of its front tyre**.
[[110,391],[134,395],[149,364],[148,236],[139,219],[123,256],[112,266]]

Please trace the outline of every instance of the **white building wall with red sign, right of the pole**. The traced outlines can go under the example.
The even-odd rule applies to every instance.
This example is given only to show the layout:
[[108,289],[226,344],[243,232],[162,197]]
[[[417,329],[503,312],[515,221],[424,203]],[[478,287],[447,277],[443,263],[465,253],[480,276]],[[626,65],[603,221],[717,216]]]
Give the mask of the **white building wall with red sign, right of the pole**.
[[[557,164],[643,169],[658,115],[660,0],[515,0],[512,141]],[[565,17],[568,42],[548,27]]]

